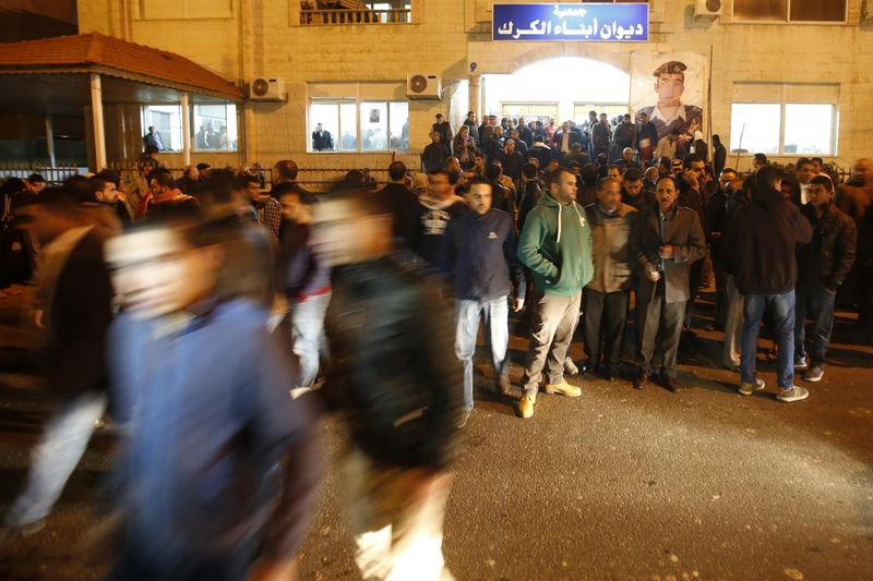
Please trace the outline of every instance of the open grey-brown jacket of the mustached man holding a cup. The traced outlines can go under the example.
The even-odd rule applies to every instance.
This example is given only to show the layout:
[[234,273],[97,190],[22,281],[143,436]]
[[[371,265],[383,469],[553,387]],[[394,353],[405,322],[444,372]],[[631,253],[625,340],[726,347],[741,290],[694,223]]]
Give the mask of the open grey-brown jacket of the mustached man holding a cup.
[[[661,259],[658,256],[658,247],[663,244],[673,246],[672,258]],[[660,209],[657,204],[646,207],[636,215],[630,246],[631,256],[639,273],[641,301],[649,301],[655,293],[656,283],[647,276],[653,266],[658,268],[665,279],[665,298],[668,303],[689,300],[689,270],[692,263],[706,256],[706,240],[696,211],[673,206],[661,235]]]

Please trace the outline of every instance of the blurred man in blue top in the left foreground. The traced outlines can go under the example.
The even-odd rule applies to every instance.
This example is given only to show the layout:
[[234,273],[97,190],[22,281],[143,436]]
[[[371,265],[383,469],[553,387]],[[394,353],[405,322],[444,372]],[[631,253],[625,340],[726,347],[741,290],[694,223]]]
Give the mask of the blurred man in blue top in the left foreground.
[[313,417],[288,394],[294,372],[267,307],[235,282],[228,262],[240,253],[229,246],[244,243],[244,227],[235,217],[150,225],[108,243],[125,310],[110,373],[130,426],[110,579],[294,572],[318,477]]

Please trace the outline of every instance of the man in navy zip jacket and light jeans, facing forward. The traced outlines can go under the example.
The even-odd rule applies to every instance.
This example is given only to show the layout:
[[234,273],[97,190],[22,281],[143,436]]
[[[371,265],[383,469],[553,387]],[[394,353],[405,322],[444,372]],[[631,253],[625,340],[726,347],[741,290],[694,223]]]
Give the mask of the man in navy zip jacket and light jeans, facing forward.
[[494,375],[501,394],[510,392],[507,296],[515,285],[513,311],[525,302],[525,274],[517,257],[512,217],[491,207],[491,185],[474,180],[465,195],[469,209],[449,222],[441,266],[455,276],[455,354],[464,363],[464,419],[473,410],[473,354],[485,318]]

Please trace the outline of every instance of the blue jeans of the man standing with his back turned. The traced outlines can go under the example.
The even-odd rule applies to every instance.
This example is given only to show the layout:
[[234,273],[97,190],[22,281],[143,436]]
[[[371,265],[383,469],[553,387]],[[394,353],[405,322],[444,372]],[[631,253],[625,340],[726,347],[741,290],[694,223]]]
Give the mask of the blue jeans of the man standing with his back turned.
[[782,389],[791,389],[794,386],[794,291],[782,294],[745,295],[740,376],[746,384],[755,380],[757,336],[767,307],[772,308],[775,339],[779,346],[776,380]]

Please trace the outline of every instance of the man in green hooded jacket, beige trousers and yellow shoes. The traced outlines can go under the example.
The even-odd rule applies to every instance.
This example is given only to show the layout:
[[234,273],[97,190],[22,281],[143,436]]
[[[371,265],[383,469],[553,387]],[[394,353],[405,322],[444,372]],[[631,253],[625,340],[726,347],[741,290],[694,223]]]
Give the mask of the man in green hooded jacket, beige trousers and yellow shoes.
[[534,318],[522,378],[518,414],[534,415],[548,360],[547,394],[571,398],[582,390],[564,379],[564,360],[579,320],[582,288],[591,280],[591,232],[585,210],[575,202],[576,175],[558,168],[549,191],[528,214],[518,241],[518,258],[534,280]]

